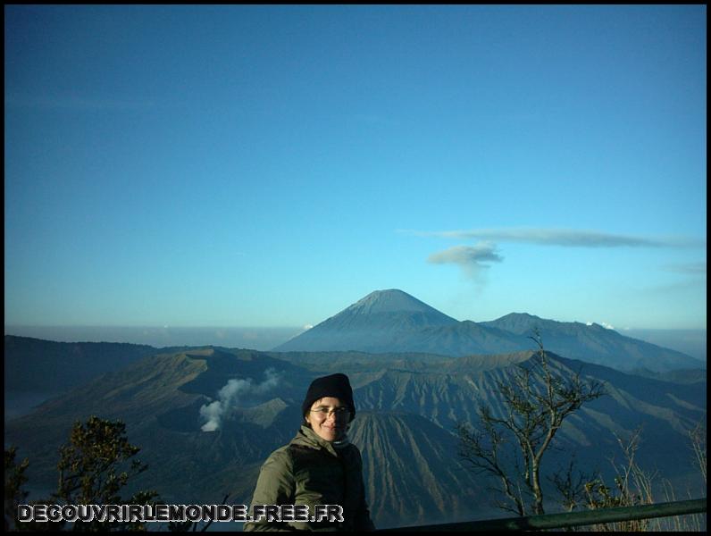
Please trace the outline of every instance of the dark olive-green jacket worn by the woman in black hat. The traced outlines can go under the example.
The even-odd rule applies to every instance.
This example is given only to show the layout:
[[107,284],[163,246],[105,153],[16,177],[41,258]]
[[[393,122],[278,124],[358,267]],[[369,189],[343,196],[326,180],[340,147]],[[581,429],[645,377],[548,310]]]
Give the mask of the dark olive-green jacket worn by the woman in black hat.
[[[355,445],[334,448],[311,428],[302,426],[289,445],[278,448],[262,465],[252,505],[343,507],[343,523],[245,523],[245,531],[372,531],[365,503],[363,460]],[[250,508],[251,514],[251,508]]]

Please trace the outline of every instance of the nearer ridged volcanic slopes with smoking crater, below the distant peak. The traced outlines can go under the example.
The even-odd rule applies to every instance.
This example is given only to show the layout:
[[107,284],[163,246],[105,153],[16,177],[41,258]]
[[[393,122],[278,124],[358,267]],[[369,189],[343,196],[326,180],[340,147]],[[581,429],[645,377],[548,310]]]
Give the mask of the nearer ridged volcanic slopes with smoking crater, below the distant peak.
[[[247,503],[265,457],[296,433],[309,382],[340,371],[354,387],[358,413],[349,436],[364,455],[376,523],[486,518],[500,512],[489,506],[489,483],[457,458],[453,427],[474,422],[481,403],[498,415],[496,381],[506,381],[531,355],[530,350],[446,357],[225,348],[159,353],[6,422],[4,441],[29,456],[30,484],[49,489],[56,482],[57,448],[73,422],[88,415],[121,419],[149,465],[137,487],[156,489],[165,500],[182,504],[212,504],[227,492],[233,503]],[[694,480],[686,431],[705,415],[706,381],[682,385],[548,357],[562,373],[582,367],[586,378],[604,381],[609,392],[565,423],[550,455],[551,468],[565,464],[574,451],[586,469],[609,470],[613,432],[625,436],[641,425],[640,463],[675,482]],[[235,389],[225,398],[230,385]],[[215,402],[220,403],[218,425],[205,431],[204,409]]]

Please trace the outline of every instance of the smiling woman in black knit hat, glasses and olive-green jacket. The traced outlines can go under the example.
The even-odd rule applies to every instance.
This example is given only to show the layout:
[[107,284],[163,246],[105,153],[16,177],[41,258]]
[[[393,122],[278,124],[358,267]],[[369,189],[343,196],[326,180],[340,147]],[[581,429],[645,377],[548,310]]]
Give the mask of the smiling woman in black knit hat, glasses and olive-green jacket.
[[[348,377],[331,374],[316,378],[306,391],[301,410],[304,422],[297,436],[272,452],[262,465],[252,506],[306,505],[309,520],[263,518],[246,523],[244,530],[374,530],[365,503],[361,454],[347,438],[348,424],[356,416]],[[319,513],[316,505],[342,507],[341,519],[312,520]]]

